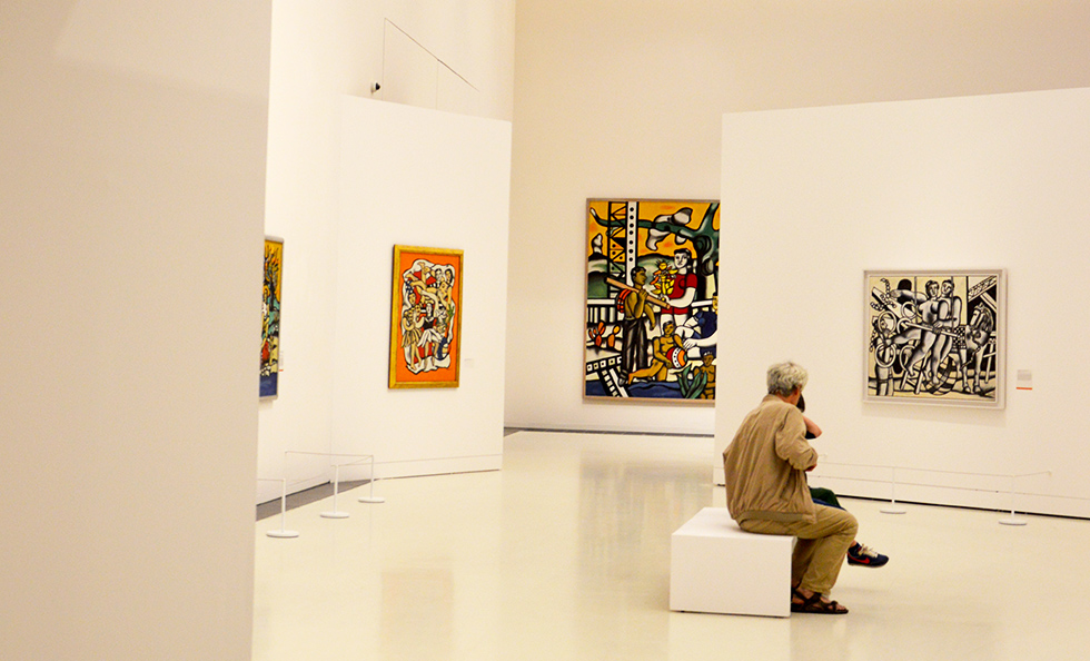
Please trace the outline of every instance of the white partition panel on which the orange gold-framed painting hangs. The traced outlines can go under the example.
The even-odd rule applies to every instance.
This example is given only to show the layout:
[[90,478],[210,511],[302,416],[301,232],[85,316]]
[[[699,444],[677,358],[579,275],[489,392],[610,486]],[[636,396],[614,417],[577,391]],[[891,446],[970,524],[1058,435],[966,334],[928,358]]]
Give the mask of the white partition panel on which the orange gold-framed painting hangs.
[[[379,477],[499,468],[511,124],[343,103],[333,452]],[[464,251],[458,387],[388,387],[395,244]]]

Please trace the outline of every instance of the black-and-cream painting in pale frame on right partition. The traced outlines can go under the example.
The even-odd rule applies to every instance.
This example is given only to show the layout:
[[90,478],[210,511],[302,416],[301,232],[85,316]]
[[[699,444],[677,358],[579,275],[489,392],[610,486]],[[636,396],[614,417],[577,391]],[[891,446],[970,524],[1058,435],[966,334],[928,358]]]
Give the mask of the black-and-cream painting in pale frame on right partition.
[[866,402],[1004,406],[1007,272],[863,274]]

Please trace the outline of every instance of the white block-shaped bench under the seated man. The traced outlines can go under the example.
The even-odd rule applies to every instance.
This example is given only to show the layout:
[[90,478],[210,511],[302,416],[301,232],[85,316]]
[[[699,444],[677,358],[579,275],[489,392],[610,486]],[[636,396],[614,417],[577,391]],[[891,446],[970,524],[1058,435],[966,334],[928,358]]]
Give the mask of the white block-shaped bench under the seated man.
[[791,615],[790,535],[747,533],[704,507],[670,539],[670,610]]

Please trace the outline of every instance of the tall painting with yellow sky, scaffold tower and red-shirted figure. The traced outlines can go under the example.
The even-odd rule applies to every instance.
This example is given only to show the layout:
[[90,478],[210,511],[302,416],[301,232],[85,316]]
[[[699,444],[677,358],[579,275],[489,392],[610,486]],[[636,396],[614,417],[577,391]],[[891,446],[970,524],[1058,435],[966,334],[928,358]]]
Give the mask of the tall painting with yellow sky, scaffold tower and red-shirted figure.
[[586,209],[584,396],[714,399],[719,201]]

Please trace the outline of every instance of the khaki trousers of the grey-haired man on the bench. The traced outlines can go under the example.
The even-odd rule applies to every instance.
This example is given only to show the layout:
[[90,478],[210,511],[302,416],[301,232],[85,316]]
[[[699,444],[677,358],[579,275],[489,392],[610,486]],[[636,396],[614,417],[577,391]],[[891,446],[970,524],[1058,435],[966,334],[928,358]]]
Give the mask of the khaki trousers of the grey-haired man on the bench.
[[814,523],[747,519],[739,527],[752,533],[799,537],[791,556],[791,584],[828,595],[836,584],[848,547],[855,541],[859,522],[836,507],[814,505],[814,509],[818,511]]

